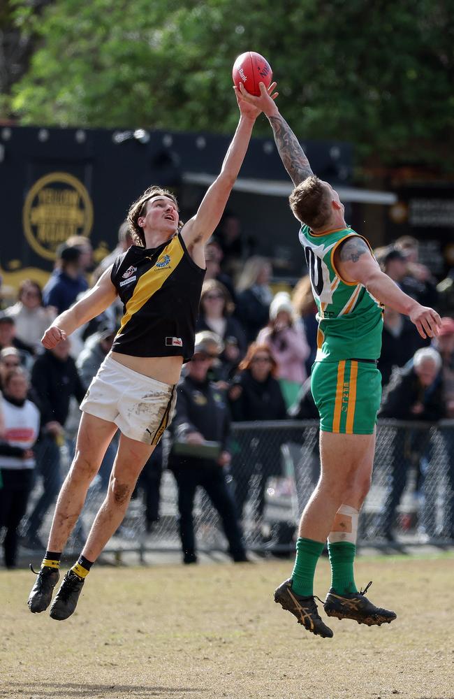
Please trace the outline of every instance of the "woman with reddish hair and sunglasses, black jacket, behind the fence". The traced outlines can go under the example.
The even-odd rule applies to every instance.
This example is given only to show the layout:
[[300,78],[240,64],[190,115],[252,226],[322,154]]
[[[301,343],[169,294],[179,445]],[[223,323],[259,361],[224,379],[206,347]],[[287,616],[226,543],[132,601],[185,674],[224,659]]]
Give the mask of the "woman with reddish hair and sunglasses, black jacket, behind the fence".
[[[240,373],[233,380],[228,393],[233,420],[250,422],[286,419],[286,405],[275,378],[277,363],[270,348],[252,343],[238,368]],[[242,445],[232,464],[235,500],[240,517],[243,516],[253,477],[258,484],[256,525],[259,531],[265,509],[266,480],[271,475],[281,473],[280,447],[277,433],[270,439],[266,431],[261,433],[256,429],[252,438],[247,437],[247,443]]]

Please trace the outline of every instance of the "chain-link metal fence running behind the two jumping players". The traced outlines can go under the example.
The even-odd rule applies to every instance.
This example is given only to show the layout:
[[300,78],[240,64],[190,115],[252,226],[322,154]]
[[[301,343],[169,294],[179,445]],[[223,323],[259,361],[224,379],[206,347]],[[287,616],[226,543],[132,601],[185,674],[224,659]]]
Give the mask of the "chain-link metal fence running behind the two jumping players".
[[[167,445],[168,446],[168,445]],[[166,453],[164,442],[164,455]],[[318,480],[318,421],[279,421],[234,424],[233,460],[228,483],[240,513],[249,550],[293,551],[300,512]],[[445,542],[454,531],[454,421],[437,425],[380,421],[372,487],[360,516],[358,541]],[[63,449],[64,468],[70,450]],[[156,477],[159,482],[159,474]],[[40,491],[38,484],[31,504]],[[118,533],[106,550],[180,550],[177,491],[173,475],[163,470],[159,520],[147,532],[145,498],[136,491]],[[68,542],[80,550],[104,492],[99,482],[90,487],[87,501]],[[45,538],[54,507],[48,512]],[[199,551],[226,549],[219,517],[203,491],[196,494],[194,521]]]

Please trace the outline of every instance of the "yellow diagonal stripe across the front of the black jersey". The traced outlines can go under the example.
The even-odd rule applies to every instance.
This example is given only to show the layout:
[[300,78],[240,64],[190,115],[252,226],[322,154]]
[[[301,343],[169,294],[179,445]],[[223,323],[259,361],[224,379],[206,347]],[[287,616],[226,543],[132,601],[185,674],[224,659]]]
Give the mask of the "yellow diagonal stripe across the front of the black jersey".
[[151,298],[156,291],[161,289],[164,282],[166,282],[166,280],[170,277],[170,274],[175,270],[177,264],[180,263],[184,255],[184,251],[178,236],[175,236],[175,238],[171,240],[170,244],[164,248],[156,262],[161,261],[165,255],[170,257],[168,266],[156,267],[156,264],[154,264],[149,271],[145,272],[145,274],[140,277],[136,289],[134,289],[133,295],[129,299],[128,303],[126,303],[126,310],[124,316],[122,317],[118,335],[122,334],[124,326],[126,326],[126,323],[131,320],[134,313],[138,312],[138,310],[142,308],[142,305],[147,303],[149,298]]

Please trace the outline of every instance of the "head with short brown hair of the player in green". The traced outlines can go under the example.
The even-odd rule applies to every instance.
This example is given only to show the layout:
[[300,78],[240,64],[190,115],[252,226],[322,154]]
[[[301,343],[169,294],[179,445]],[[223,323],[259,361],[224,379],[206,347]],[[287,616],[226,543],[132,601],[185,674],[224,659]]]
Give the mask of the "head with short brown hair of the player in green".
[[316,175],[300,182],[288,197],[293,215],[310,229],[317,231],[328,224],[331,197],[328,187]]

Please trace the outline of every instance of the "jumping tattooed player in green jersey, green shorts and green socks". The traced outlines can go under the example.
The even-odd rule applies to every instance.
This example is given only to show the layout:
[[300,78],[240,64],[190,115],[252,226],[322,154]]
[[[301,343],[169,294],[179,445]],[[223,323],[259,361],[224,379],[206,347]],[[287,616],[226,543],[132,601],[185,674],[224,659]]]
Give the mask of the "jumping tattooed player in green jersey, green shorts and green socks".
[[329,182],[314,175],[298,139],[263,84],[245,100],[270,121],[277,150],[295,189],[290,206],[302,224],[312,291],[318,308],[318,352],[312,394],[320,413],[321,477],[302,512],[292,577],[274,600],[307,630],[332,637],[314,601],[316,563],[328,539],[331,588],[325,613],[359,624],[381,625],[394,612],[376,607],[353,577],[358,515],[369,491],[375,450],[381,377],[384,305],[408,315],[423,338],[438,334],[440,317],[404,294],[377,264],[367,240],[347,226],[344,206]]

